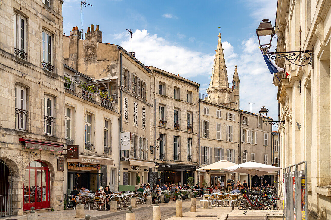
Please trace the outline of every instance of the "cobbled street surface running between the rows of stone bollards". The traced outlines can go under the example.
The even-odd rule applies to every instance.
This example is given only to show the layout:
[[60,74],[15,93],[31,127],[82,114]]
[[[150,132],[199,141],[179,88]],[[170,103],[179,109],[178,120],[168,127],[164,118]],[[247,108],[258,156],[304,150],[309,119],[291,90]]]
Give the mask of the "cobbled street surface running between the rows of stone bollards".
[[[167,219],[176,215],[176,202],[169,203],[159,203],[161,206],[161,219]],[[153,206],[147,204],[138,204],[137,208],[133,208],[132,211],[135,215],[135,220],[153,220]],[[199,201],[197,201],[197,206],[199,207]],[[186,199],[182,202],[183,213],[190,211],[191,209],[191,201]],[[228,208],[230,211],[230,208]],[[36,210],[36,212],[38,212]],[[67,209],[55,212],[42,212],[38,213],[38,220],[83,220],[82,218],[75,218],[76,210]],[[117,212],[111,212],[109,210],[89,210],[85,208],[85,214],[91,215],[90,220],[125,220],[125,213],[128,212],[128,209],[121,210]],[[7,218],[1,218],[0,220],[26,220],[26,215],[21,216],[10,216]]]

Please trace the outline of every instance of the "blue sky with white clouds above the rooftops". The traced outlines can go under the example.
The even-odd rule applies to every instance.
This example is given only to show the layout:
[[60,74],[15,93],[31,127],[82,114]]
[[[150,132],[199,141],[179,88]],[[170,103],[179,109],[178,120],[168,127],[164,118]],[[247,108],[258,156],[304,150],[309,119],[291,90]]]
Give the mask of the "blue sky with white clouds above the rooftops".
[[[133,29],[132,51],[145,65],[155,66],[200,83],[206,93],[221,26],[229,82],[237,64],[240,108],[258,113],[261,106],[277,119],[277,89],[272,84],[255,29],[263,18],[274,24],[276,0],[140,1],[87,0],[84,33],[99,24],[103,42],[130,50],[127,29]],[[64,33],[81,29],[80,1],[63,4]],[[275,45],[274,41],[274,45]],[[230,84],[231,86],[231,84]],[[274,129],[275,130],[275,129]]]

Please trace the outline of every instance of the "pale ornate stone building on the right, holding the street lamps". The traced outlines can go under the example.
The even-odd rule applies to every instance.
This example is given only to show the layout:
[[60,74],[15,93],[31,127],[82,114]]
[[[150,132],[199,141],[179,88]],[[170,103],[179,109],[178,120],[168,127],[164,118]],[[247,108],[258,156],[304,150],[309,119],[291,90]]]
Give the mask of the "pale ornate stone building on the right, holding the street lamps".
[[306,219],[331,218],[330,6],[327,0],[279,0],[277,5],[277,51],[313,51],[312,65],[278,59],[276,65],[289,75],[277,74],[279,79],[273,80],[278,86],[279,117],[285,121],[278,128],[279,166],[307,161]]

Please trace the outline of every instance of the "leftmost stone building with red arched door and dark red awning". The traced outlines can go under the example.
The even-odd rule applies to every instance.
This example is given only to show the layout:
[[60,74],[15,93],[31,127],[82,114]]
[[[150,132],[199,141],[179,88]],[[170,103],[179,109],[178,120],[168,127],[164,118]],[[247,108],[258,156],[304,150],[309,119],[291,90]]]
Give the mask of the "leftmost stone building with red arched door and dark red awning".
[[0,216],[64,207],[62,3],[1,1]]

